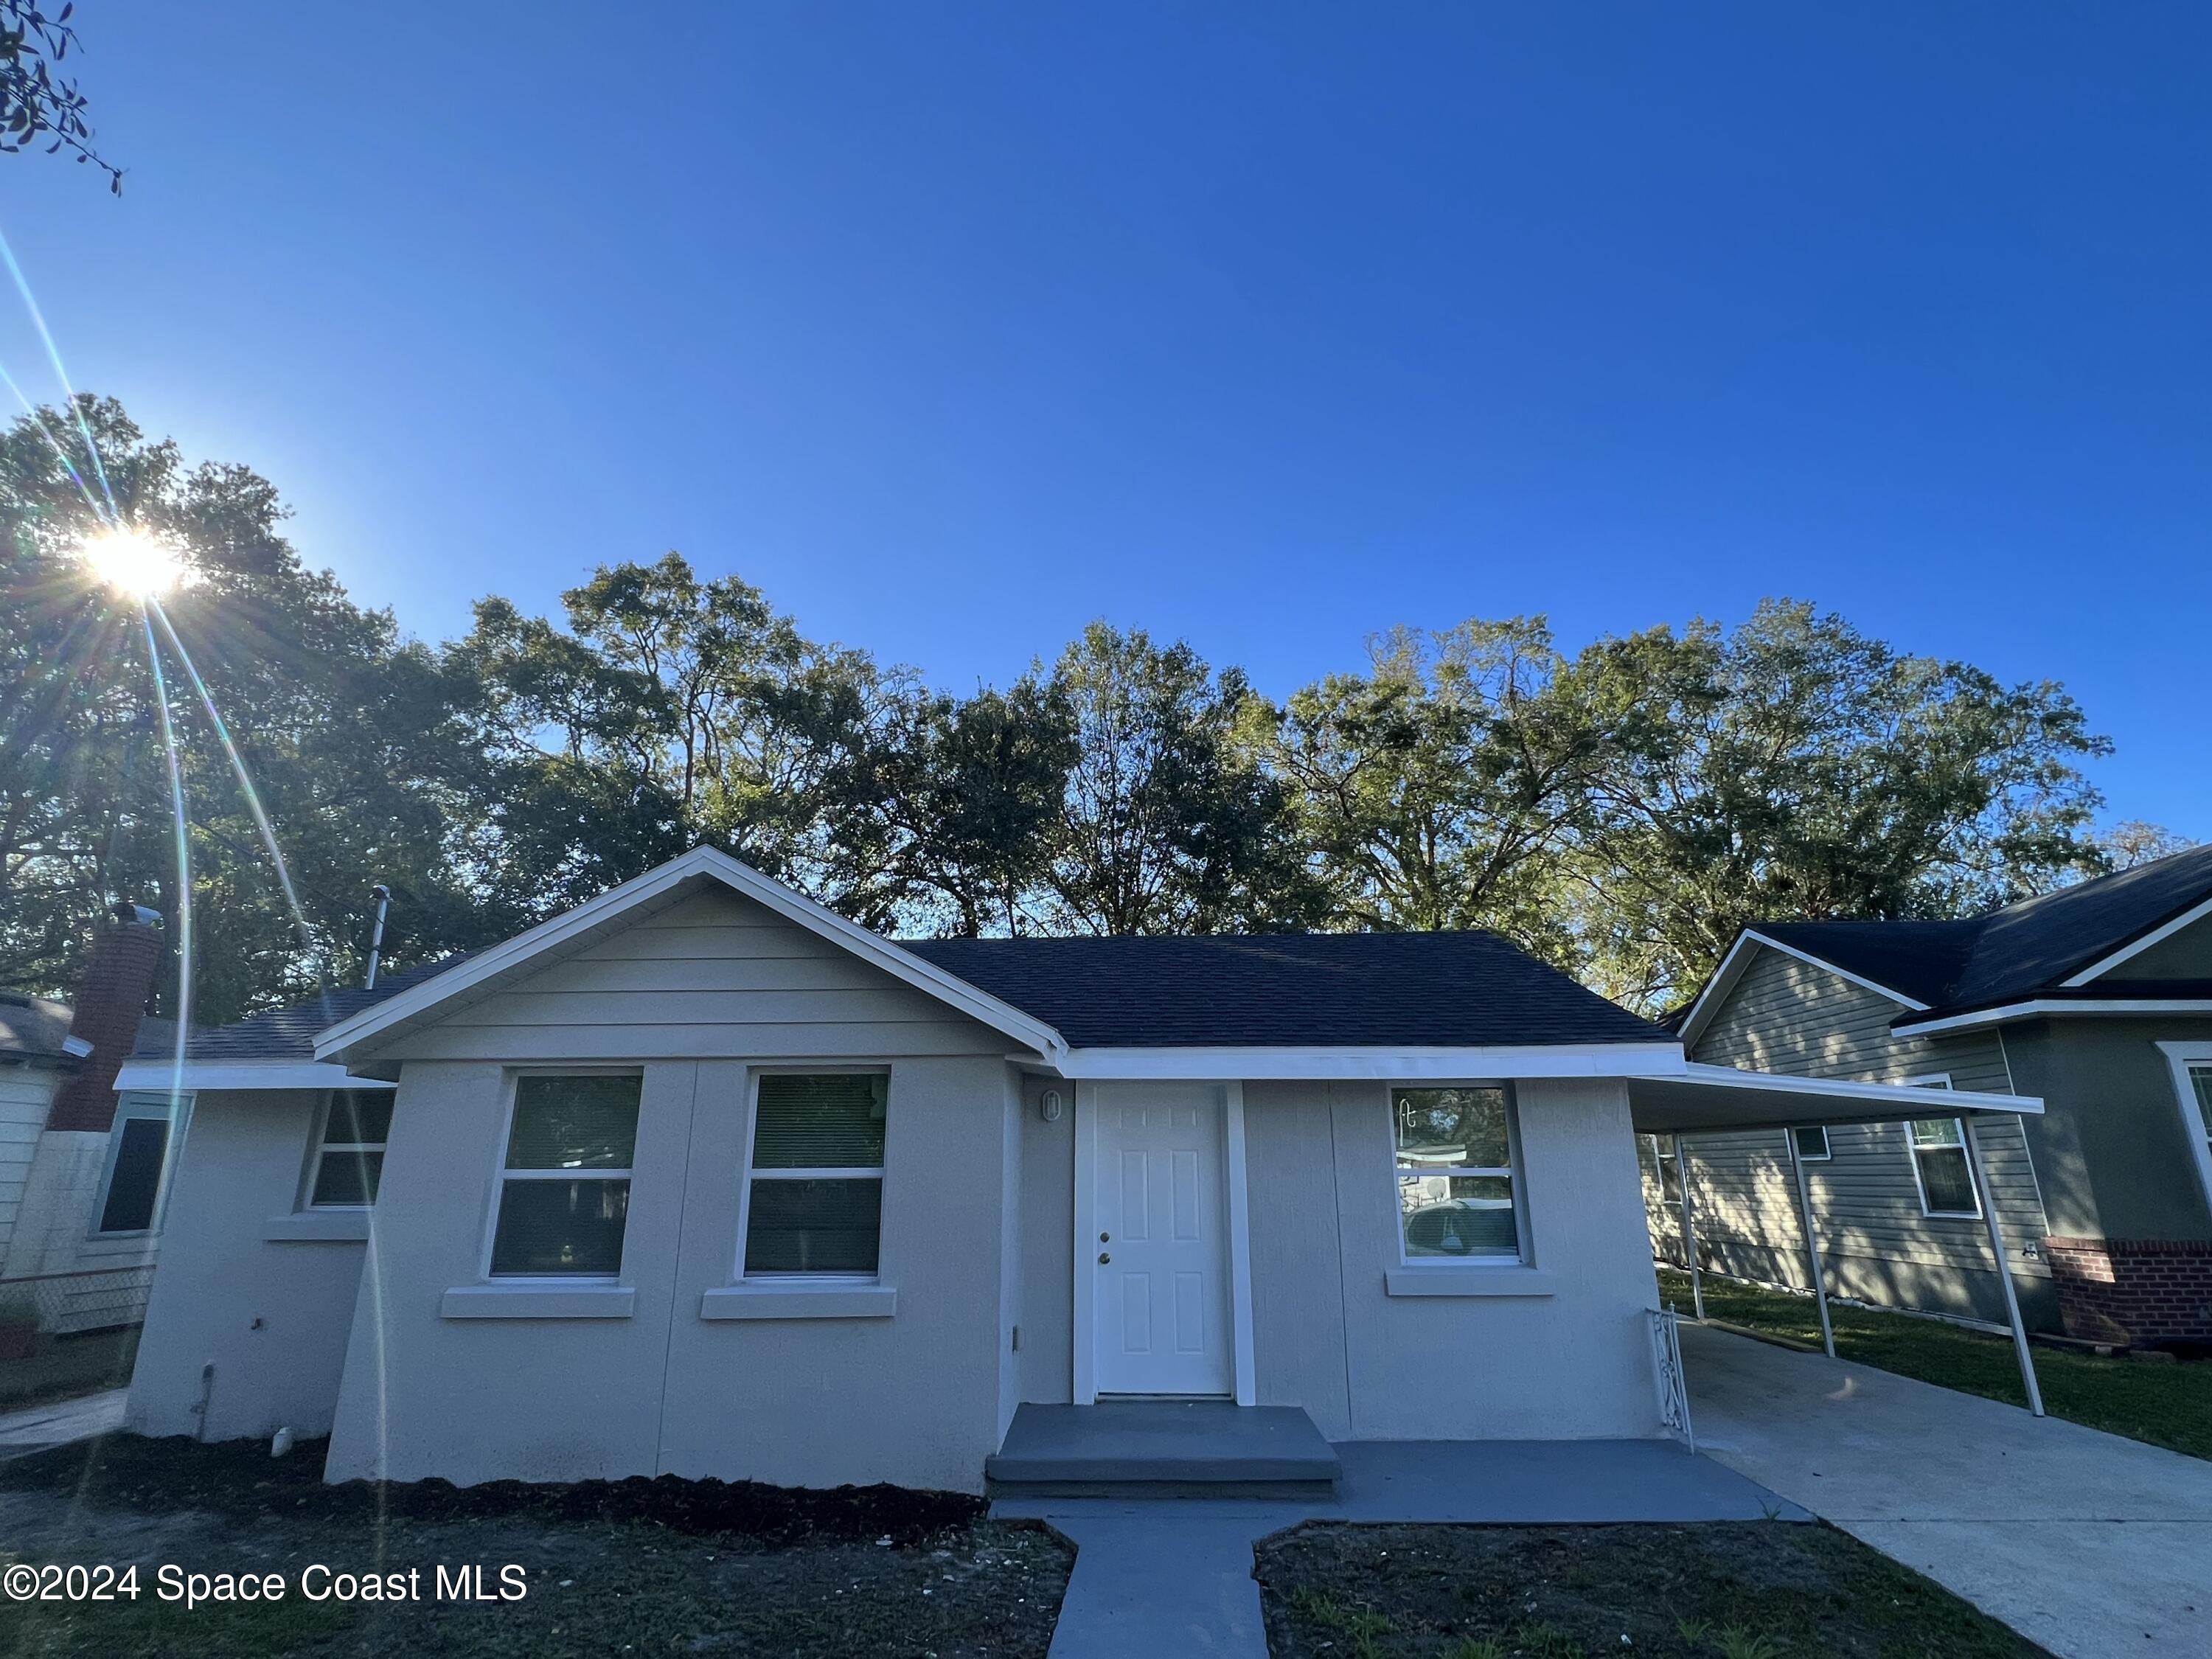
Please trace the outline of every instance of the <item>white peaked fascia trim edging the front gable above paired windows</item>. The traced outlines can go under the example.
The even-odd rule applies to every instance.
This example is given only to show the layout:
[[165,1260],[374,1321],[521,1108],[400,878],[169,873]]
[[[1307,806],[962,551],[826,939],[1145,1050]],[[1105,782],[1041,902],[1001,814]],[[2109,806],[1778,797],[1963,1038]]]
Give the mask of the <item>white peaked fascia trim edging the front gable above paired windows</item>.
[[449,998],[456,998],[502,973],[511,973],[529,964],[533,958],[560,949],[568,940],[615,920],[624,911],[668,894],[692,876],[710,876],[719,880],[723,887],[765,905],[787,922],[796,922],[810,933],[816,933],[832,945],[841,945],[863,962],[880,967],[885,973],[905,980],[916,991],[933,995],[938,1002],[958,1009],[971,1020],[980,1020],[1015,1042],[1029,1044],[1046,1057],[1066,1051],[1066,1042],[1062,1042],[1060,1033],[1042,1020],[1022,1013],[1009,1002],[1000,1002],[987,991],[978,991],[967,980],[925,962],[911,951],[902,951],[891,940],[869,933],[865,927],[858,927],[836,911],[816,905],[812,898],[794,894],[783,883],[770,880],[759,869],[741,865],[726,852],[717,852],[714,847],[692,847],[688,854],[670,858],[659,869],[648,869],[644,876],[622,883],[622,887],[611,887],[597,898],[577,905],[571,911],[562,911],[549,922],[540,922],[524,933],[515,933],[502,945],[493,945],[456,969],[438,973],[409,991],[400,991],[387,1002],[363,1009],[352,1020],[341,1020],[316,1035],[314,1057],[334,1060],[347,1048],[356,1048],[358,1044],[369,1042],[372,1037],[405,1024],[429,1009],[436,1009]]

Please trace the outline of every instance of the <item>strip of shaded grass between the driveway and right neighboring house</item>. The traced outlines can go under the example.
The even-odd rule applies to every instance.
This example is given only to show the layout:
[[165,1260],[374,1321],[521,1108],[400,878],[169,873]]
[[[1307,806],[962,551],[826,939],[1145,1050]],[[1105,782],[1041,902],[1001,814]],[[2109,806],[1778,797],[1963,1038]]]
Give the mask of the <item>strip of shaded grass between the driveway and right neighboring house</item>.
[[[1661,1267],[1659,1298],[1688,1314],[1690,1274]],[[1801,1343],[1820,1340],[1820,1312],[1812,1296],[1705,1274],[1705,1314]],[[2028,1402],[2008,1336],[1836,1303],[1829,1303],[1829,1323],[1836,1327],[1838,1358],[2008,1405]],[[2099,1358],[2042,1343],[2031,1354],[2044,1409],[2053,1416],[2192,1458],[2212,1458],[2212,1360]]]

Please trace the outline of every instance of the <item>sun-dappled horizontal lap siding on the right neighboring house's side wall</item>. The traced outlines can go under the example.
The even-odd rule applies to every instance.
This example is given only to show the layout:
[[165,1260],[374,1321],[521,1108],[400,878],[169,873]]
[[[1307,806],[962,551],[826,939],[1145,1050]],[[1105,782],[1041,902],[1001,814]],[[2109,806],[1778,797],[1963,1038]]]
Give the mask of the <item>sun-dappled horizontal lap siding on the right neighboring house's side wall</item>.
[[[1905,1082],[1947,1073],[1953,1088],[2011,1093],[1995,1033],[1891,1035],[1900,1004],[1823,967],[1761,949],[1697,1042],[1692,1060],[1851,1082]],[[1936,1097],[1940,1102],[1940,1095]],[[1942,1117],[1933,1104],[1929,1117]],[[1989,1183],[2011,1254],[2015,1290],[2031,1323],[2057,1325],[2048,1232],[2035,1164],[2017,1119],[1980,1130]],[[1980,1219],[1922,1212],[1902,1124],[1829,1128],[1827,1161],[1805,1166],[1829,1287],[1874,1303],[1975,1318],[2004,1318],[1989,1237]],[[1699,1135],[1690,1141],[1692,1210],[1705,1265],[1750,1279],[1809,1287],[1787,1141],[1778,1130]],[[1657,1208],[1646,1177],[1646,1206]],[[1652,1217],[1661,1254],[1681,1256],[1679,1214]]]

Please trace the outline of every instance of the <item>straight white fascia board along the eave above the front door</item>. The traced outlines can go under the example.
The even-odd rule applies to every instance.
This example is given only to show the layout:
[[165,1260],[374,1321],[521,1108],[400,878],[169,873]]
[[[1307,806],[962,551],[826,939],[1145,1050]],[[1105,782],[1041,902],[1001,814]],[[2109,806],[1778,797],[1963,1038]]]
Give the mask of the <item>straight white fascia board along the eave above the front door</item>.
[[1666,1077],[1688,1062],[1674,1042],[1517,1044],[1500,1048],[1071,1048],[1062,1077],[1172,1082],[1467,1082],[1478,1077]]

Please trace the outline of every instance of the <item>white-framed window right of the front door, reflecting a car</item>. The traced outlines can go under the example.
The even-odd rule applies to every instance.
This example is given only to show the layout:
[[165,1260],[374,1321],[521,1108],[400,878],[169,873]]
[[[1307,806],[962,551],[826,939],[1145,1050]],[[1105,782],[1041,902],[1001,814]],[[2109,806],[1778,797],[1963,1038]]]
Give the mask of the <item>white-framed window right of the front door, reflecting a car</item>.
[[1407,1261],[1520,1261],[1524,1228],[1504,1088],[1394,1088],[1391,1135]]

